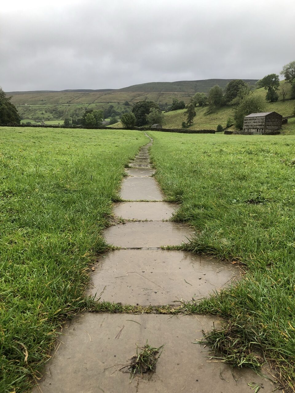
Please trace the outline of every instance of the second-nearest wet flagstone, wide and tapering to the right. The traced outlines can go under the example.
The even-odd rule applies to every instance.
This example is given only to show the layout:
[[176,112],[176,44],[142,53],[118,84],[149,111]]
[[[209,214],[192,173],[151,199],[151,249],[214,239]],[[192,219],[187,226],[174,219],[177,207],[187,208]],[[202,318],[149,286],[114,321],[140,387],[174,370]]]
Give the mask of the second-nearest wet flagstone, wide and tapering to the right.
[[89,294],[114,303],[177,304],[204,298],[239,274],[229,263],[183,251],[116,250],[98,260]]

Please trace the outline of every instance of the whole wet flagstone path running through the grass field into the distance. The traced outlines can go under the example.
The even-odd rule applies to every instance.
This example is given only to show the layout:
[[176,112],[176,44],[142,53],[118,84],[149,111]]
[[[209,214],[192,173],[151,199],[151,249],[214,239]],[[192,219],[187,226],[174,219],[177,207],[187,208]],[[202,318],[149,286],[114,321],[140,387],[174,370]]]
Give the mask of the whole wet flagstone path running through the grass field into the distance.
[[[165,221],[177,209],[163,202],[151,177],[148,149],[142,147],[122,183],[127,202],[114,213],[127,221],[104,231],[108,243],[122,249],[99,258],[89,293],[101,301],[131,305],[177,304],[200,299],[228,285],[238,270],[229,264],[160,246],[187,242],[193,231],[183,224]],[[150,202],[146,202],[146,201]],[[163,221],[164,220],[164,221]],[[53,357],[33,392],[42,393],[233,393],[253,392],[247,384],[273,385],[249,369],[231,369],[208,362],[210,351],[195,343],[202,330],[221,326],[214,316],[163,314],[85,313],[69,321],[57,340]],[[136,353],[136,343],[165,344],[155,373],[129,378],[119,371]]]

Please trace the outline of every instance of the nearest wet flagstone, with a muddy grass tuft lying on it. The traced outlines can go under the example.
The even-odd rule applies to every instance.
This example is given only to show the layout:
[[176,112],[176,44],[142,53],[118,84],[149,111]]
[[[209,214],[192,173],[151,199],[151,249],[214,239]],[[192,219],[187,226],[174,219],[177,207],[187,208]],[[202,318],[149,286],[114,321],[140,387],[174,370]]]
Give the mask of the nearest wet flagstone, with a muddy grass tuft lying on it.
[[[263,393],[273,392],[271,382],[254,371],[207,361],[210,349],[195,342],[213,322],[221,326],[210,316],[82,314],[63,329],[33,393],[251,393],[247,384],[253,382],[263,384]],[[146,342],[165,344],[156,371],[129,378],[119,370],[136,354],[136,343]]]

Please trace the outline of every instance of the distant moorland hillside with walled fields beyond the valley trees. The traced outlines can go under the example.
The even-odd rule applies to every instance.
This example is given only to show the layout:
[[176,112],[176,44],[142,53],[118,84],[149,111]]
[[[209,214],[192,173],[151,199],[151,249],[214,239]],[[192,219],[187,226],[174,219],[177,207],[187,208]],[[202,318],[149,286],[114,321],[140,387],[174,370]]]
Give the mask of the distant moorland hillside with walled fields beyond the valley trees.
[[[172,103],[177,97],[188,103],[195,92],[208,92],[215,84],[225,87],[232,79],[206,79],[200,81],[152,82],[137,84],[118,90],[62,90],[7,92],[11,102],[26,121],[63,121],[66,117],[79,117],[85,109],[105,109],[113,105],[118,112],[126,109],[124,102],[136,103],[152,100],[157,103]],[[256,79],[244,79],[254,84]]]

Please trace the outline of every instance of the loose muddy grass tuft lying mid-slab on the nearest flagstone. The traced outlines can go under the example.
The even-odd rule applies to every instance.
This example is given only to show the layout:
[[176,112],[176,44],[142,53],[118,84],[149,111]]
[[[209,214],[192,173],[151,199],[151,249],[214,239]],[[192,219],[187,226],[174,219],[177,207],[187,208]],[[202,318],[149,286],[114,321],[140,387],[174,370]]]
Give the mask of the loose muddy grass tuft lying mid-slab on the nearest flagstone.
[[144,345],[143,347],[138,347],[138,345],[136,344],[136,355],[132,356],[132,358],[130,359],[130,363],[122,367],[121,370],[124,368],[128,368],[128,370],[130,371],[130,378],[132,378],[136,374],[140,374],[140,376],[142,377],[142,374],[144,373],[154,372],[156,369],[157,361],[161,356],[163,347],[164,344],[156,348],[149,345],[147,342],[146,345]]

